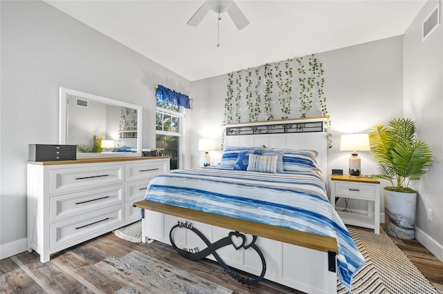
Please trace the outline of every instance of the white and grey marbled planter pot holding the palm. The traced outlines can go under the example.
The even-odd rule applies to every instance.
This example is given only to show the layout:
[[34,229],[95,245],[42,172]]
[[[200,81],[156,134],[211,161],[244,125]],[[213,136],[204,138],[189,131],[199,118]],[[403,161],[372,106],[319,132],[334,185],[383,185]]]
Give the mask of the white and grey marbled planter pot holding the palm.
[[384,191],[386,233],[400,239],[414,239],[417,193]]

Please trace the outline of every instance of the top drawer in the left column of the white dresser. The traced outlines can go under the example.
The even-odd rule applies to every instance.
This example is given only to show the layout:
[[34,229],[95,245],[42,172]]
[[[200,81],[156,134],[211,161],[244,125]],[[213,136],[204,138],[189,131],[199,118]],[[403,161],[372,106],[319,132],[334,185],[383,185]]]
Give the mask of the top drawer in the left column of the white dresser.
[[98,165],[80,168],[55,168],[49,172],[49,193],[98,188],[124,182],[124,165]]

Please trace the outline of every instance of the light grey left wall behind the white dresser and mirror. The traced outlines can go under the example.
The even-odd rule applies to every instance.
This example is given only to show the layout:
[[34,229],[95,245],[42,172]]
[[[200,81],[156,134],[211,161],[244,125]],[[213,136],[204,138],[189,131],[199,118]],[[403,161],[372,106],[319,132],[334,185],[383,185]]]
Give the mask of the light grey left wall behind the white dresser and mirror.
[[143,106],[155,148],[155,88],[190,82],[43,1],[0,1],[0,258],[26,250],[28,144],[58,144],[59,88]]

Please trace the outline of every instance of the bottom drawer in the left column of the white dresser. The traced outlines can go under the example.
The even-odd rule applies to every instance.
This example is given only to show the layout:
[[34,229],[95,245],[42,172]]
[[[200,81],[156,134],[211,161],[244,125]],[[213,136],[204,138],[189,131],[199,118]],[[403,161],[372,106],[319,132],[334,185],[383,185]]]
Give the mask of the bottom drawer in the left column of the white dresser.
[[118,228],[123,224],[123,207],[123,204],[114,205],[51,224],[51,250],[57,247],[66,248]]

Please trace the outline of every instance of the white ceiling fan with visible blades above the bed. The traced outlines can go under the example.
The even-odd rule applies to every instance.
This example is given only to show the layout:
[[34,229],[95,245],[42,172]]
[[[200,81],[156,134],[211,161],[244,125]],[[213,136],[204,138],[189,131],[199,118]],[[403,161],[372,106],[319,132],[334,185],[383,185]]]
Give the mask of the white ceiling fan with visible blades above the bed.
[[220,14],[227,11],[239,30],[242,30],[242,28],[249,24],[248,19],[246,19],[233,0],[205,0],[197,12],[189,19],[188,25],[199,26],[199,23],[201,23],[206,14],[208,14],[209,10],[219,14],[219,20]]

